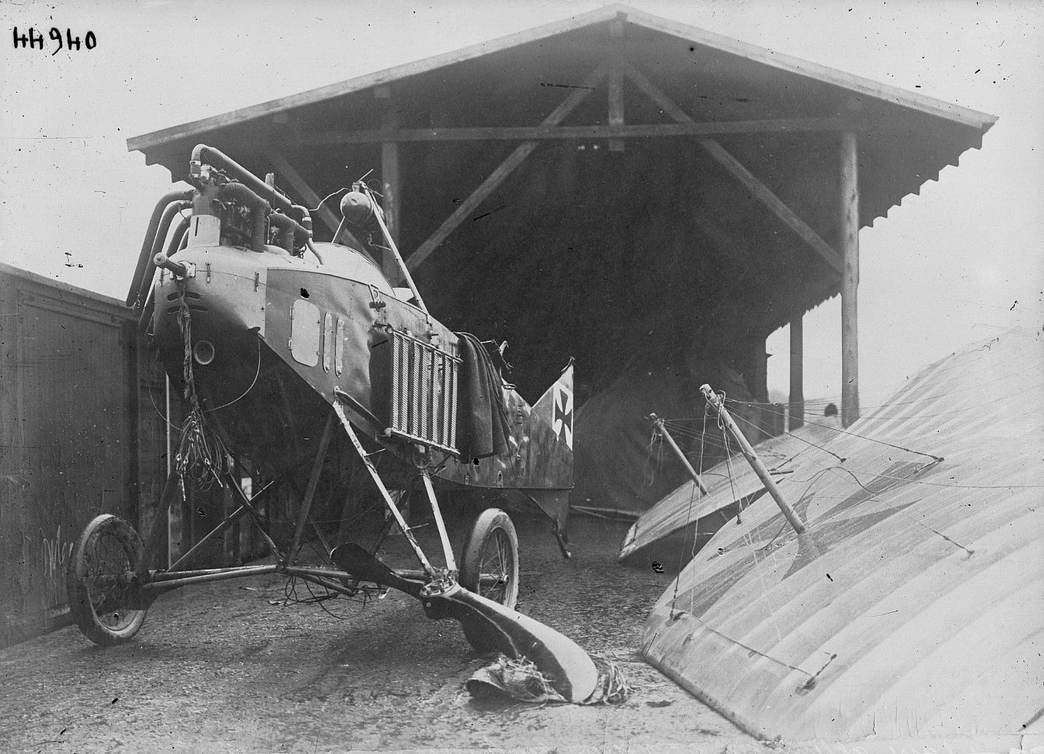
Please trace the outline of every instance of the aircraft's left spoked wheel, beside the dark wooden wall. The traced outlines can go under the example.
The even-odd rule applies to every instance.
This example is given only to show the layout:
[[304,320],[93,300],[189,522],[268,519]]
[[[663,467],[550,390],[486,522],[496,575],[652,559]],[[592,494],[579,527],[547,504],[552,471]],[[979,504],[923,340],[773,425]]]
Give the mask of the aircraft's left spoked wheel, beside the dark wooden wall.
[[69,560],[66,590],[76,625],[94,643],[122,643],[141,628],[145,610],[130,607],[130,587],[119,579],[144,558],[141,537],[122,518],[106,513],[84,529]]

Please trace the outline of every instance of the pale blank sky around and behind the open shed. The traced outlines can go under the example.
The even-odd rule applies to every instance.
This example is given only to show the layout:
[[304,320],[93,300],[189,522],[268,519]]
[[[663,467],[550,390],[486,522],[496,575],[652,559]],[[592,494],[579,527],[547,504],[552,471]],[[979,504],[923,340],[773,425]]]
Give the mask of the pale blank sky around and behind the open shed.
[[[579,0],[0,4],[0,262],[122,299],[169,173],[126,139],[587,13]],[[1044,323],[1044,3],[634,0],[633,7],[998,116],[860,233],[864,407]],[[43,31],[44,50],[14,29]],[[62,46],[49,30],[61,31]],[[80,38],[70,48],[66,30]],[[94,47],[86,49],[87,32]],[[52,54],[53,53],[53,54]],[[805,318],[805,395],[840,392],[840,313]],[[788,334],[767,344],[786,393]]]

